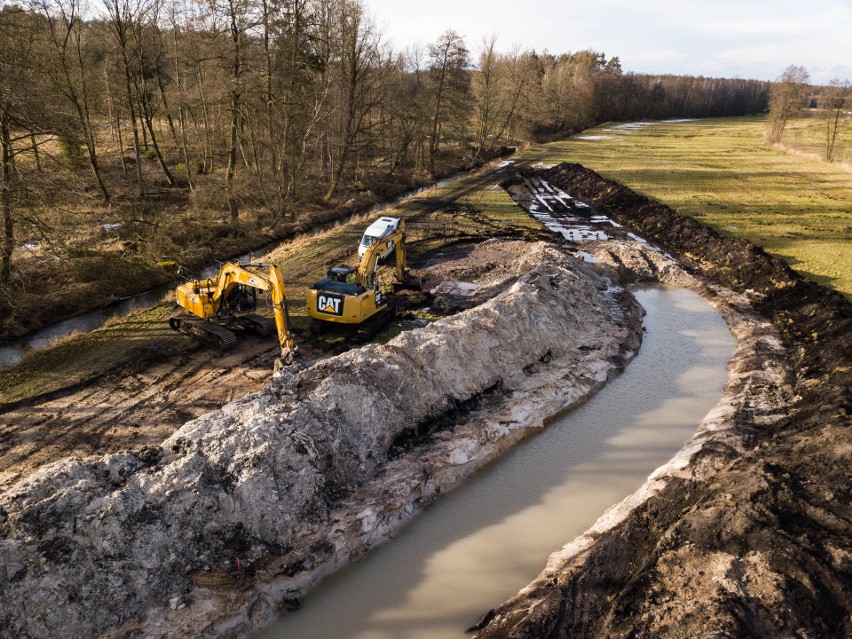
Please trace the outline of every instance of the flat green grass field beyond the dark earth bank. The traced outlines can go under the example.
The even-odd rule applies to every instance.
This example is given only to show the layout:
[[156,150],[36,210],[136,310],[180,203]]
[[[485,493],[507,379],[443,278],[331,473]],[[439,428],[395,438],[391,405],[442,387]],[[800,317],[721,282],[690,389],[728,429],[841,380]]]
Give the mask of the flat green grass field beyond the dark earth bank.
[[[784,142],[793,152],[766,146],[764,119],[753,117],[605,124],[526,155],[583,164],[852,297],[852,171],[806,155],[824,135],[818,122],[790,123]],[[841,136],[845,157],[848,124]]]

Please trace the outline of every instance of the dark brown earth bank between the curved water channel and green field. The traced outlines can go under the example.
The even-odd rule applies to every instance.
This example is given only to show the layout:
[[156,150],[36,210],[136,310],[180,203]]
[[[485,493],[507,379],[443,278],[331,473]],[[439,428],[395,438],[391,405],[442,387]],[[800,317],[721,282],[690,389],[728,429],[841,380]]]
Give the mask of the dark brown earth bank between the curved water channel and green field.
[[784,399],[771,367],[760,384],[761,362],[735,362],[730,414],[708,416],[684,458],[554,553],[477,637],[852,636],[849,303],[579,165],[545,176],[739,292],[783,336],[793,394],[784,414],[762,414],[773,392]]

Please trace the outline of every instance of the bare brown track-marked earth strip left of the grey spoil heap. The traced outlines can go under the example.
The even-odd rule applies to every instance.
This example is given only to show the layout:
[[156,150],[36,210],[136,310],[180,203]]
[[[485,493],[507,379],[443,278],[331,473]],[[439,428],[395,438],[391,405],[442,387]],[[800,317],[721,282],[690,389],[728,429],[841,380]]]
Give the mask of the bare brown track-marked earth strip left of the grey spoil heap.
[[199,348],[8,409],[0,413],[0,486],[63,457],[159,444],[186,421],[266,385],[275,351],[261,338],[228,353]]

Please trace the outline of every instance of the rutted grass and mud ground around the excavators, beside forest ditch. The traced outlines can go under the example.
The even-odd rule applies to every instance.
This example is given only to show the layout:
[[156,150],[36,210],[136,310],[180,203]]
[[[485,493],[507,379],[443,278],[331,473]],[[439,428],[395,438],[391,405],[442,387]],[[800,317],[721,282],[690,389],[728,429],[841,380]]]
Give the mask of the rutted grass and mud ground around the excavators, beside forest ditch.
[[[409,262],[416,267],[442,247],[490,237],[538,239],[547,233],[499,186],[502,171],[483,171],[428,194],[407,199],[394,214],[408,225]],[[487,212],[485,212],[487,210]],[[295,339],[303,360],[354,345],[346,330],[315,335],[305,296],[310,284],[338,264],[357,264],[357,246],[371,218],[299,237],[263,257],[281,265]],[[390,267],[385,270],[389,283]],[[383,341],[418,317],[436,316],[422,296],[397,296],[400,321]],[[219,352],[169,329],[173,298],[72,335],[0,371],[0,486],[70,455],[152,446],[189,419],[265,386],[277,354],[275,338],[241,337]],[[264,314],[271,316],[271,309]]]

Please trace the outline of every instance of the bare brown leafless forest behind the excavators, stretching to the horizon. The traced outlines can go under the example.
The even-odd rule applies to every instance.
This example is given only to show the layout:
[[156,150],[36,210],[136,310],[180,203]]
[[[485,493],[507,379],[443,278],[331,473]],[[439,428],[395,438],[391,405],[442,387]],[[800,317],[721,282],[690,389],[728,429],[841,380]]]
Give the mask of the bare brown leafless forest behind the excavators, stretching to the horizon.
[[4,336],[29,330],[16,300],[34,292],[73,313],[73,287],[108,301],[518,145],[767,108],[767,82],[638,75],[569,47],[448,29],[394,50],[359,0],[4,6]]

